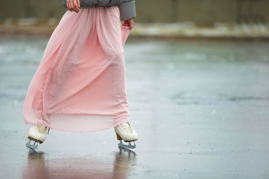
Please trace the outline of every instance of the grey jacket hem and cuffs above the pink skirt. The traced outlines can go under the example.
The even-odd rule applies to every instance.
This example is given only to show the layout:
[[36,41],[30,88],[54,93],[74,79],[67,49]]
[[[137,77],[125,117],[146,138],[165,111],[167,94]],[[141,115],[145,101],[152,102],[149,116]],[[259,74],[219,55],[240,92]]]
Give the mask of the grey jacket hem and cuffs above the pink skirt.
[[[67,8],[66,0],[62,0]],[[98,6],[118,6],[120,19],[127,20],[136,17],[135,0],[79,0],[80,8],[91,8]]]

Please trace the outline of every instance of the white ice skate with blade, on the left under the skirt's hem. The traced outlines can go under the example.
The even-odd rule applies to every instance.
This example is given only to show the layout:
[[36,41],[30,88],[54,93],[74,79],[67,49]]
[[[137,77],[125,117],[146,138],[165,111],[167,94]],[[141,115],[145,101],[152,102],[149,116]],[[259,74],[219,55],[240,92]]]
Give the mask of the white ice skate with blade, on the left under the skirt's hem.
[[[38,143],[42,144],[45,141],[46,135],[47,133],[49,133],[49,130],[49,127],[45,127],[42,125],[31,126],[28,134],[28,139],[30,139],[30,141],[26,143],[26,146],[31,149],[36,149]],[[33,141],[33,144],[31,144],[31,141]]]

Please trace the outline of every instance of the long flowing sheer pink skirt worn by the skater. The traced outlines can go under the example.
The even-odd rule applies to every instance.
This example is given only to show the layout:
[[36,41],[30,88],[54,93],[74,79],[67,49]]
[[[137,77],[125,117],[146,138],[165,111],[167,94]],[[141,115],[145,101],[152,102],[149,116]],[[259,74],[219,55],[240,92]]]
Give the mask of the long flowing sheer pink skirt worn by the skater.
[[23,107],[26,124],[90,132],[129,121],[117,6],[66,11],[52,33]]

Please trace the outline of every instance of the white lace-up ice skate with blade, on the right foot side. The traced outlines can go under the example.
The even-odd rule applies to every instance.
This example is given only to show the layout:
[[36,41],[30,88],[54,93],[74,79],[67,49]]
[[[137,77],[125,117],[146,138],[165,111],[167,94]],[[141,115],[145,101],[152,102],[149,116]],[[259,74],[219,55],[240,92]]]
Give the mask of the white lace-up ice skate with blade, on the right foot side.
[[[135,141],[138,139],[138,135],[129,122],[119,124],[118,126],[114,127],[114,130],[117,135],[117,140],[120,141],[118,144],[119,147],[136,147]],[[129,142],[129,145],[123,144],[122,140],[125,142]],[[131,142],[134,142],[134,145],[131,145]]]

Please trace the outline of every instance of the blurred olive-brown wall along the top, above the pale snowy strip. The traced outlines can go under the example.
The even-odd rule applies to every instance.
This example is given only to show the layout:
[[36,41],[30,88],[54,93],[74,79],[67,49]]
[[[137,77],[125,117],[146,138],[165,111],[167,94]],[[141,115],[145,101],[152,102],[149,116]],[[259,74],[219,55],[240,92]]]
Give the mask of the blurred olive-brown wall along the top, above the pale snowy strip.
[[[0,1],[0,20],[38,17],[60,19],[66,9],[61,0]],[[268,23],[269,0],[136,0],[136,21],[173,23],[193,21],[197,25],[218,23]]]

